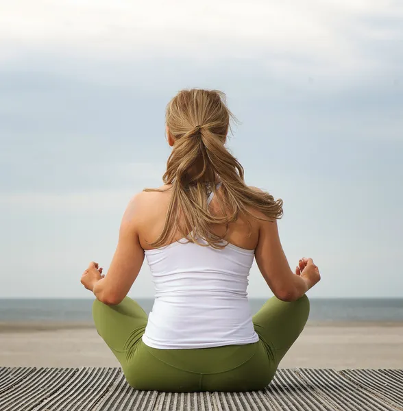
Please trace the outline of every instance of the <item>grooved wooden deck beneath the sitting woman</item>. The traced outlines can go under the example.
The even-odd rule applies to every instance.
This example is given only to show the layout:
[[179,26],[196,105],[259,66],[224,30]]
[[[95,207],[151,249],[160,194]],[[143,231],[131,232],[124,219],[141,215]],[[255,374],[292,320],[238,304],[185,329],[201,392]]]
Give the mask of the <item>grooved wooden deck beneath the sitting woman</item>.
[[288,369],[253,393],[136,391],[117,368],[0,367],[1,411],[403,411],[403,370]]

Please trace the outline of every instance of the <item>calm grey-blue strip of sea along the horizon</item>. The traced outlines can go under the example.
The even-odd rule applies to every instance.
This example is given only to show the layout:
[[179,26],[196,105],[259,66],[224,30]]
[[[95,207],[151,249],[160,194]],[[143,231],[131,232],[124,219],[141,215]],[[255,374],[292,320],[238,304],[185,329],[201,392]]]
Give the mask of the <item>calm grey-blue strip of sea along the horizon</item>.
[[[152,299],[137,299],[148,313]],[[92,321],[93,299],[0,299],[0,321]],[[250,299],[253,313],[265,303]],[[310,299],[310,321],[403,321],[403,299]]]

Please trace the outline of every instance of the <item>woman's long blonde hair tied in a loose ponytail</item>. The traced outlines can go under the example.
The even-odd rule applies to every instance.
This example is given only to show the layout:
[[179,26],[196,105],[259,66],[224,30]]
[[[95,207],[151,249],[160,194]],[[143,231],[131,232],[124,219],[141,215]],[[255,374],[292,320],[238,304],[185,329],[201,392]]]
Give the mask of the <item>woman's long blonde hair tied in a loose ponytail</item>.
[[[188,241],[199,244],[197,238],[203,238],[206,246],[222,249],[228,224],[239,219],[241,212],[260,219],[249,212],[249,207],[262,212],[270,221],[281,218],[282,200],[275,201],[269,193],[248,187],[243,166],[225,148],[230,119],[236,121],[227,107],[225,94],[219,90],[182,90],[169,101],[165,120],[175,143],[162,180],[171,187],[143,190],[172,190],[164,228],[157,240],[149,243],[151,247],[167,245],[178,230]],[[212,184],[215,192],[217,182],[221,182],[222,195],[217,201],[223,216],[212,215],[207,207],[206,184]],[[226,225],[223,236],[210,231],[217,224]]]

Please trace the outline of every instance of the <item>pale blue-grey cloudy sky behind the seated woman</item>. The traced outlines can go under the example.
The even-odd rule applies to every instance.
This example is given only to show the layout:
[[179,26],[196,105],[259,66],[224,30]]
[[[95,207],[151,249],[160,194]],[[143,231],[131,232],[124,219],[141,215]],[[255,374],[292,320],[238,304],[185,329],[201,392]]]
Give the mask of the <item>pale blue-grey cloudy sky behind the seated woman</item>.
[[[403,5],[0,0],[0,298],[93,296],[130,198],[162,185],[164,109],[215,88],[245,181],[284,201],[310,297],[403,297]],[[131,297],[154,295],[147,263]],[[256,264],[249,297],[270,297]]]

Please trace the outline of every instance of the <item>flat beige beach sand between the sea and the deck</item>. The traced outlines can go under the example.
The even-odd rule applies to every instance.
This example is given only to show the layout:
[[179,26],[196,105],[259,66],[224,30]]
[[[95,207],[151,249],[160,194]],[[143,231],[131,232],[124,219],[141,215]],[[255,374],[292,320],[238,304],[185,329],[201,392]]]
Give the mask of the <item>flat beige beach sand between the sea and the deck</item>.
[[[119,366],[88,324],[0,323],[0,366]],[[280,368],[403,369],[403,323],[309,324]]]

